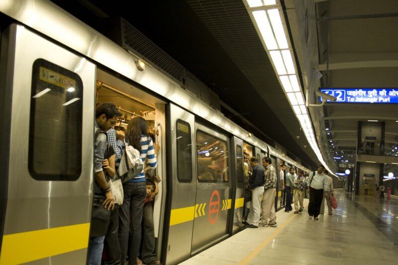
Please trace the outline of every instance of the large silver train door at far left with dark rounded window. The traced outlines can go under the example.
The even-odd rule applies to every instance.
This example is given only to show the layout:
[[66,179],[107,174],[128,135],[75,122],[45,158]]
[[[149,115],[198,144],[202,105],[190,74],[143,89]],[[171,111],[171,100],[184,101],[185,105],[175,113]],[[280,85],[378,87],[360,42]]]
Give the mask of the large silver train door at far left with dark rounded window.
[[0,264],[85,264],[96,67],[17,24],[1,49]]

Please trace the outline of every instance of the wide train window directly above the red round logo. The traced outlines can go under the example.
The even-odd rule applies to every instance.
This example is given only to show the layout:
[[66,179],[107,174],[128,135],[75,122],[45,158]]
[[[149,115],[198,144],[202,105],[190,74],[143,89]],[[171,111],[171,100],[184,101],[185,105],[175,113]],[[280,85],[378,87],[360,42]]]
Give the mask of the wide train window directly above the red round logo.
[[228,146],[212,135],[197,132],[199,182],[228,182]]

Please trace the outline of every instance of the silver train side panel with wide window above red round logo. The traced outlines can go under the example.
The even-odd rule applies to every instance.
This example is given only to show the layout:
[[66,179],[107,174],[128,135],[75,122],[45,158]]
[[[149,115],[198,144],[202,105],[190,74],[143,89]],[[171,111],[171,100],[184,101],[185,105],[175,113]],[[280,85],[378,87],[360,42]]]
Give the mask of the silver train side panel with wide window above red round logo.
[[229,236],[232,181],[229,137],[195,124],[197,192],[192,255]]

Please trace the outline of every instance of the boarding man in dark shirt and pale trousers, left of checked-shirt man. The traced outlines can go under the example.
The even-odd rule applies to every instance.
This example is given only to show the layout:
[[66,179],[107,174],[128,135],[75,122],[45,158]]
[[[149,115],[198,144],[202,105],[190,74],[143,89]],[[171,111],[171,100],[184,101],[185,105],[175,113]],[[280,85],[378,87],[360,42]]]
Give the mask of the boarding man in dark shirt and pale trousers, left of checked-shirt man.
[[247,227],[258,228],[261,196],[264,193],[264,168],[259,165],[258,159],[255,157],[250,158],[250,166],[253,168],[253,172],[247,187],[252,190],[252,201],[250,203],[249,216],[247,217]]

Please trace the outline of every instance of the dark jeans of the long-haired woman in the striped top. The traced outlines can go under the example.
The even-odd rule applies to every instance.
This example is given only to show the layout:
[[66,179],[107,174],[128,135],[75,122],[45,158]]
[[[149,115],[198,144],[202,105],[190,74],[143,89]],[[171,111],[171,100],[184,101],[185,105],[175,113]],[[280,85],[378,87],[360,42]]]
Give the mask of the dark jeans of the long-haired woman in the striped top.
[[[137,262],[141,244],[141,222],[146,195],[145,181],[127,182],[123,184],[124,199],[119,209],[119,242],[121,249],[121,263],[127,255],[127,244],[130,244],[128,264]],[[128,234],[131,229],[131,239]]]

